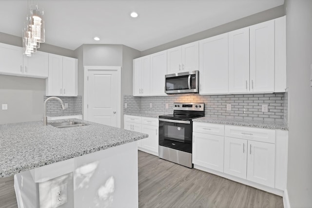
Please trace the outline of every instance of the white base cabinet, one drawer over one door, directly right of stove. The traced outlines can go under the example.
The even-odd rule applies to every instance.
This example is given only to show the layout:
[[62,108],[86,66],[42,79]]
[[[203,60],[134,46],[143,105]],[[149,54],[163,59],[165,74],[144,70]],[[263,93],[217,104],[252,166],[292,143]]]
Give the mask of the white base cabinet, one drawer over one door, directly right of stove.
[[192,162],[223,172],[224,125],[193,123],[193,129]]

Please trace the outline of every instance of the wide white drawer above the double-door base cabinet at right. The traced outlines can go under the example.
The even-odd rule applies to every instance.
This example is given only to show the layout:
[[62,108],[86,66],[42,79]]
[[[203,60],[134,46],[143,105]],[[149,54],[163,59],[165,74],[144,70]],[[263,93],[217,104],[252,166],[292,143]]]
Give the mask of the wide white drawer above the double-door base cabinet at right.
[[225,126],[225,136],[275,143],[275,130],[240,126]]

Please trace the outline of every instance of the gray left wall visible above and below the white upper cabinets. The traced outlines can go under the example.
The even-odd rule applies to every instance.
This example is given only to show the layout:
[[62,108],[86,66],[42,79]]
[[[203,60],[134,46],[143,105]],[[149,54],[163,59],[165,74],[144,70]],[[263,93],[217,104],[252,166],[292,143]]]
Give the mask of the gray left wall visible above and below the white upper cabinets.
[[[0,33],[0,42],[22,46],[20,37],[5,33]],[[40,51],[75,57],[72,50],[45,43],[41,45]],[[45,79],[0,75],[0,124],[41,120],[43,95]],[[1,110],[1,104],[8,104],[8,110]]]

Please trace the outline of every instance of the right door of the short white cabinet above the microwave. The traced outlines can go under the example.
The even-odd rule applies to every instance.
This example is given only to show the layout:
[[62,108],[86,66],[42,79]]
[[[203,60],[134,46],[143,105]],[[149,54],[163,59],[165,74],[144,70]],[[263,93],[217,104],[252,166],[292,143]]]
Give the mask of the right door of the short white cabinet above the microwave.
[[198,41],[182,45],[182,72],[199,69]]

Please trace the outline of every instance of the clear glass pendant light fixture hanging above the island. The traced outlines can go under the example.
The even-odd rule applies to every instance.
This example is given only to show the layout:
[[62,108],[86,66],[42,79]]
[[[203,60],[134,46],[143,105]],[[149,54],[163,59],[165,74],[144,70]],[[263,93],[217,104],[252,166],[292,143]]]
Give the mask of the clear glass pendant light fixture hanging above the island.
[[43,10],[39,10],[38,4],[31,5],[27,0],[28,12],[24,28],[22,30],[24,54],[31,57],[37,52],[40,43],[45,41]]

